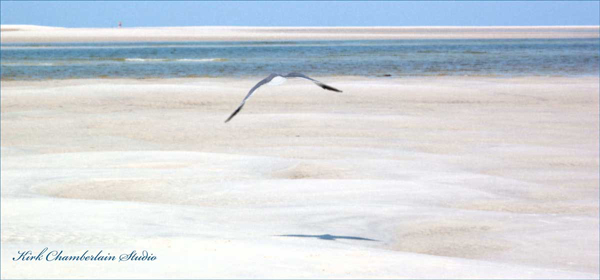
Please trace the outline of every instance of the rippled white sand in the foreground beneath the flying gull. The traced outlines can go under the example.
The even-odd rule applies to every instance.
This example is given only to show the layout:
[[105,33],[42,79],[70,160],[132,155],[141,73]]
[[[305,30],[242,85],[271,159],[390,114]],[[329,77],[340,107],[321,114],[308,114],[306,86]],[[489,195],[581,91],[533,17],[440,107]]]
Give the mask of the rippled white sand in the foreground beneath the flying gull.
[[598,78],[316,78],[2,81],[2,278],[599,277]]

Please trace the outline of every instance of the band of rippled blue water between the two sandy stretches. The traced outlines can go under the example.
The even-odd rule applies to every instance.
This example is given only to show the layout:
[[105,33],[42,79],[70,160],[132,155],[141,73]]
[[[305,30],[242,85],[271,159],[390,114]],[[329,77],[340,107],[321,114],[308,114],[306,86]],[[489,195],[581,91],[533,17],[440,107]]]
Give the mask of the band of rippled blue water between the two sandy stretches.
[[2,44],[1,76],[596,76],[599,52],[598,39]]

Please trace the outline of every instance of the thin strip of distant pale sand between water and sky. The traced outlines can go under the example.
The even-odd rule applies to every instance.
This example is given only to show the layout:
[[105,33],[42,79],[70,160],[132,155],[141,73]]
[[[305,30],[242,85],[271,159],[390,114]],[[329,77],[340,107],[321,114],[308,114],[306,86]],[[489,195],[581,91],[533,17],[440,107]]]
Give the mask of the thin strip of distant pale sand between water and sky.
[[2,43],[600,38],[600,26],[0,28]]

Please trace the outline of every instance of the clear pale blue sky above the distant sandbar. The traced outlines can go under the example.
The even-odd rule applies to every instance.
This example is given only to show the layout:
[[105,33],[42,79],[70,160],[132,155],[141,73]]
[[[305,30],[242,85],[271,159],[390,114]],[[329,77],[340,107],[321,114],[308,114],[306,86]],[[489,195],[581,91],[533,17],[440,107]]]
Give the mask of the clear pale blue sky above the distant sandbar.
[[598,25],[600,2],[1,1],[2,24],[61,27]]

